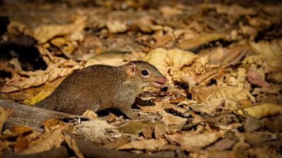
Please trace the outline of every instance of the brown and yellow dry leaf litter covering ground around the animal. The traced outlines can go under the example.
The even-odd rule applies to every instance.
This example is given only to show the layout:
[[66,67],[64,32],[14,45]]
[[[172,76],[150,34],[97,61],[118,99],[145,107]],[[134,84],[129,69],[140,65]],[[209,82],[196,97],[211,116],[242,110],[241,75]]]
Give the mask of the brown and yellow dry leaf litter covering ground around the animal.
[[[140,156],[281,157],[281,3],[93,3],[44,1],[35,8],[18,2],[21,14],[11,14],[11,4],[1,6],[11,20],[0,34],[0,49],[8,57],[1,58],[0,70],[6,73],[1,98],[34,105],[56,88],[52,82],[74,70],[132,60],[156,66],[168,84],[145,88],[135,111],[142,120],[88,110],[68,123],[46,120],[43,132],[4,129],[13,110],[0,107],[2,155],[67,146],[72,156],[86,157],[91,151],[80,148],[75,136],[90,141],[87,147]],[[22,51],[4,49],[18,44],[13,38],[20,36],[37,41],[35,58],[47,67],[27,70],[30,61],[23,60]]]

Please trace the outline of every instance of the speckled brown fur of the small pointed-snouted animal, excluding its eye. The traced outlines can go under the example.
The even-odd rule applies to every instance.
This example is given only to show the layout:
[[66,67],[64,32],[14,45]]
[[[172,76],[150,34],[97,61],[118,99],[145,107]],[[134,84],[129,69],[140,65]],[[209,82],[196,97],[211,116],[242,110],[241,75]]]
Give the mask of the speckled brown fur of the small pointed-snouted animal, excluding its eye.
[[[148,78],[141,75],[144,69],[151,72]],[[129,62],[120,67],[92,65],[70,74],[36,106],[69,114],[116,107],[133,119],[137,117],[131,110],[135,97],[145,86],[154,86],[154,81],[164,84],[167,79],[148,62]]]

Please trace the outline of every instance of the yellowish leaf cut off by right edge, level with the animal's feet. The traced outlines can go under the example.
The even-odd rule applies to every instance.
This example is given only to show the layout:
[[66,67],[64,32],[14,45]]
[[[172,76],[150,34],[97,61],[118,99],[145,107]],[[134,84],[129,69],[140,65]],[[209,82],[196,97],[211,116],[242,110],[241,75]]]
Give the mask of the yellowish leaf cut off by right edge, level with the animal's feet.
[[[245,108],[244,111],[246,111],[251,117],[260,119],[268,115],[282,114],[282,105],[276,103],[265,103],[255,107]],[[239,110],[238,113],[243,115],[242,110]]]

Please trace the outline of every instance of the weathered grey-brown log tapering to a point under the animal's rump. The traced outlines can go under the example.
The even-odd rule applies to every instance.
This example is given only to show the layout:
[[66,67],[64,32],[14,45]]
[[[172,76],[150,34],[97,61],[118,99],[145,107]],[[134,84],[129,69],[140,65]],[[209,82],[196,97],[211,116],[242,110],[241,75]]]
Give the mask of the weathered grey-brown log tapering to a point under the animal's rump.
[[42,121],[45,119],[51,118],[62,118],[62,117],[73,117],[72,114],[66,114],[63,112],[55,112],[52,110],[46,110],[39,107],[22,105],[19,103],[13,103],[11,101],[1,100],[0,99],[0,107],[9,107],[15,112],[8,117],[6,124],[4,125],[4,129],[11,129],[11,127],[16,125],[25,125],[34,129],[35,131],[42,132],[43,129],[40,128],[42,126]]

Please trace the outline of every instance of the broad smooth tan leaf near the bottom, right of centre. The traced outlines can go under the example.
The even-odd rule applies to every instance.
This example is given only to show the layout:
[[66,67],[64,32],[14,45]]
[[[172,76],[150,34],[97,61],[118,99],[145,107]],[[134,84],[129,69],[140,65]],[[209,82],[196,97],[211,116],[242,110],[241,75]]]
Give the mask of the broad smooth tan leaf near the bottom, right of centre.
[[214,143],[219,138],[223,137],[223,133],[176,133],[173,135],[166,135],[167,139],[173,140],[180,144],[184,150],[190,151],[190,147],[207,147]]

